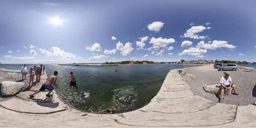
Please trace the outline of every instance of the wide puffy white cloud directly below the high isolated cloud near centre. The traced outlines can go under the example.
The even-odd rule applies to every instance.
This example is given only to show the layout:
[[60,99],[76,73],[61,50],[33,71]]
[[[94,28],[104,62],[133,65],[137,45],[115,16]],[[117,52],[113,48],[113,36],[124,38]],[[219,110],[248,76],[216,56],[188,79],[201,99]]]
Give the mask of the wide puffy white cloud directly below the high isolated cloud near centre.
[[173,38],[154,38],[152,37],[151,40],[149,41],[149,44],[153,44],[154,47],[167,47],[169,44],[173,44],[175,42],[175,39]]

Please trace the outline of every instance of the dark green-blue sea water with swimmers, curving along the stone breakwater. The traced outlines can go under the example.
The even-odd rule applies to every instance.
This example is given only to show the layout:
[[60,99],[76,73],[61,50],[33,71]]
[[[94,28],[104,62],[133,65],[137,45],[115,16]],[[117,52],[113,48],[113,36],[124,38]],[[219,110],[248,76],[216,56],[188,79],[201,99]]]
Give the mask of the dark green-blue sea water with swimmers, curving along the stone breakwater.
[[[35,64],[26,64],[27,69]],[[19,70],[23,64],[1,64],[0,68]],[[195,65],[120,65],[116,67],[76,67],[45,64],[47,75],[58,71],[58,93],[62,101],[81,111],[96,112],[116,108],[117,113],[147,105],[158,93],[169,70]],[[117,72],[115,72],[117,69]],[[76,74],[78,90],[69,87],[70,72]],[[80,92],[87,97],[81,99]]]

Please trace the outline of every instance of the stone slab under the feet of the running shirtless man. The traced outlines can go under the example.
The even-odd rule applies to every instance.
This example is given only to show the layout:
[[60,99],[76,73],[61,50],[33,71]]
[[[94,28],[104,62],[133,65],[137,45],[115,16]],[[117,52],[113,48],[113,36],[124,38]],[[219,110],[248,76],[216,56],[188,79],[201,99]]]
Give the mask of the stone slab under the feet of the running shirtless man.
[[29,95],[35,93],[34,91],[25,91],[25,92],[20,92],[20,94],[17,94],[16,96],[19,97],[20,99],[24,99],[27,101],[31,102],[41,102],[41,103],[50,103],[50,102],[58,102],[58,96],[56,95],[55,92],[52,92],[52,96],[47,97],[46,94],[47,92],[40,92],[35,94],[34,98],[30,98]]

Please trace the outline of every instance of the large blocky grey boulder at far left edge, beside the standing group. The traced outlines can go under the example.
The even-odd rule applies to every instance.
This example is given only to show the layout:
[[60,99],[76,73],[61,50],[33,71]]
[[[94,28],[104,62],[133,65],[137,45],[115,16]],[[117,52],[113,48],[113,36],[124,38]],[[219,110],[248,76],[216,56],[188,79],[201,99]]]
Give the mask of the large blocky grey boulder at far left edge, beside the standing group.
[[22,82],[13,81],[2,81],[1,82],[1,95],[12,96],[15,95],[20,90],[25,89],[25,84]]

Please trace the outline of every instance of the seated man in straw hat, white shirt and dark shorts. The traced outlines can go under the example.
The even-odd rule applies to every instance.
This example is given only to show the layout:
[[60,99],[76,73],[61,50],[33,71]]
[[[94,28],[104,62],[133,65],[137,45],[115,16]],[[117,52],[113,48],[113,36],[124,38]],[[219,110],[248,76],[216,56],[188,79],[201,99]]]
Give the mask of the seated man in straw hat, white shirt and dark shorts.
[[220,87],[220,90],[221,90],[221,99],[219,99],[219,103],[221,103],[224,99],[224,91],[226,90],[226,92],[230,89],[233,88],[234,92],[233,94],[234,95],[239,95],[237,92],[236,92],[236,85],[235,84],[232,84],[232,79],[231,77],[229,76],[230,74],[228,72],[224,72],[225,76],[222,76],[221,77],[221,87]]

